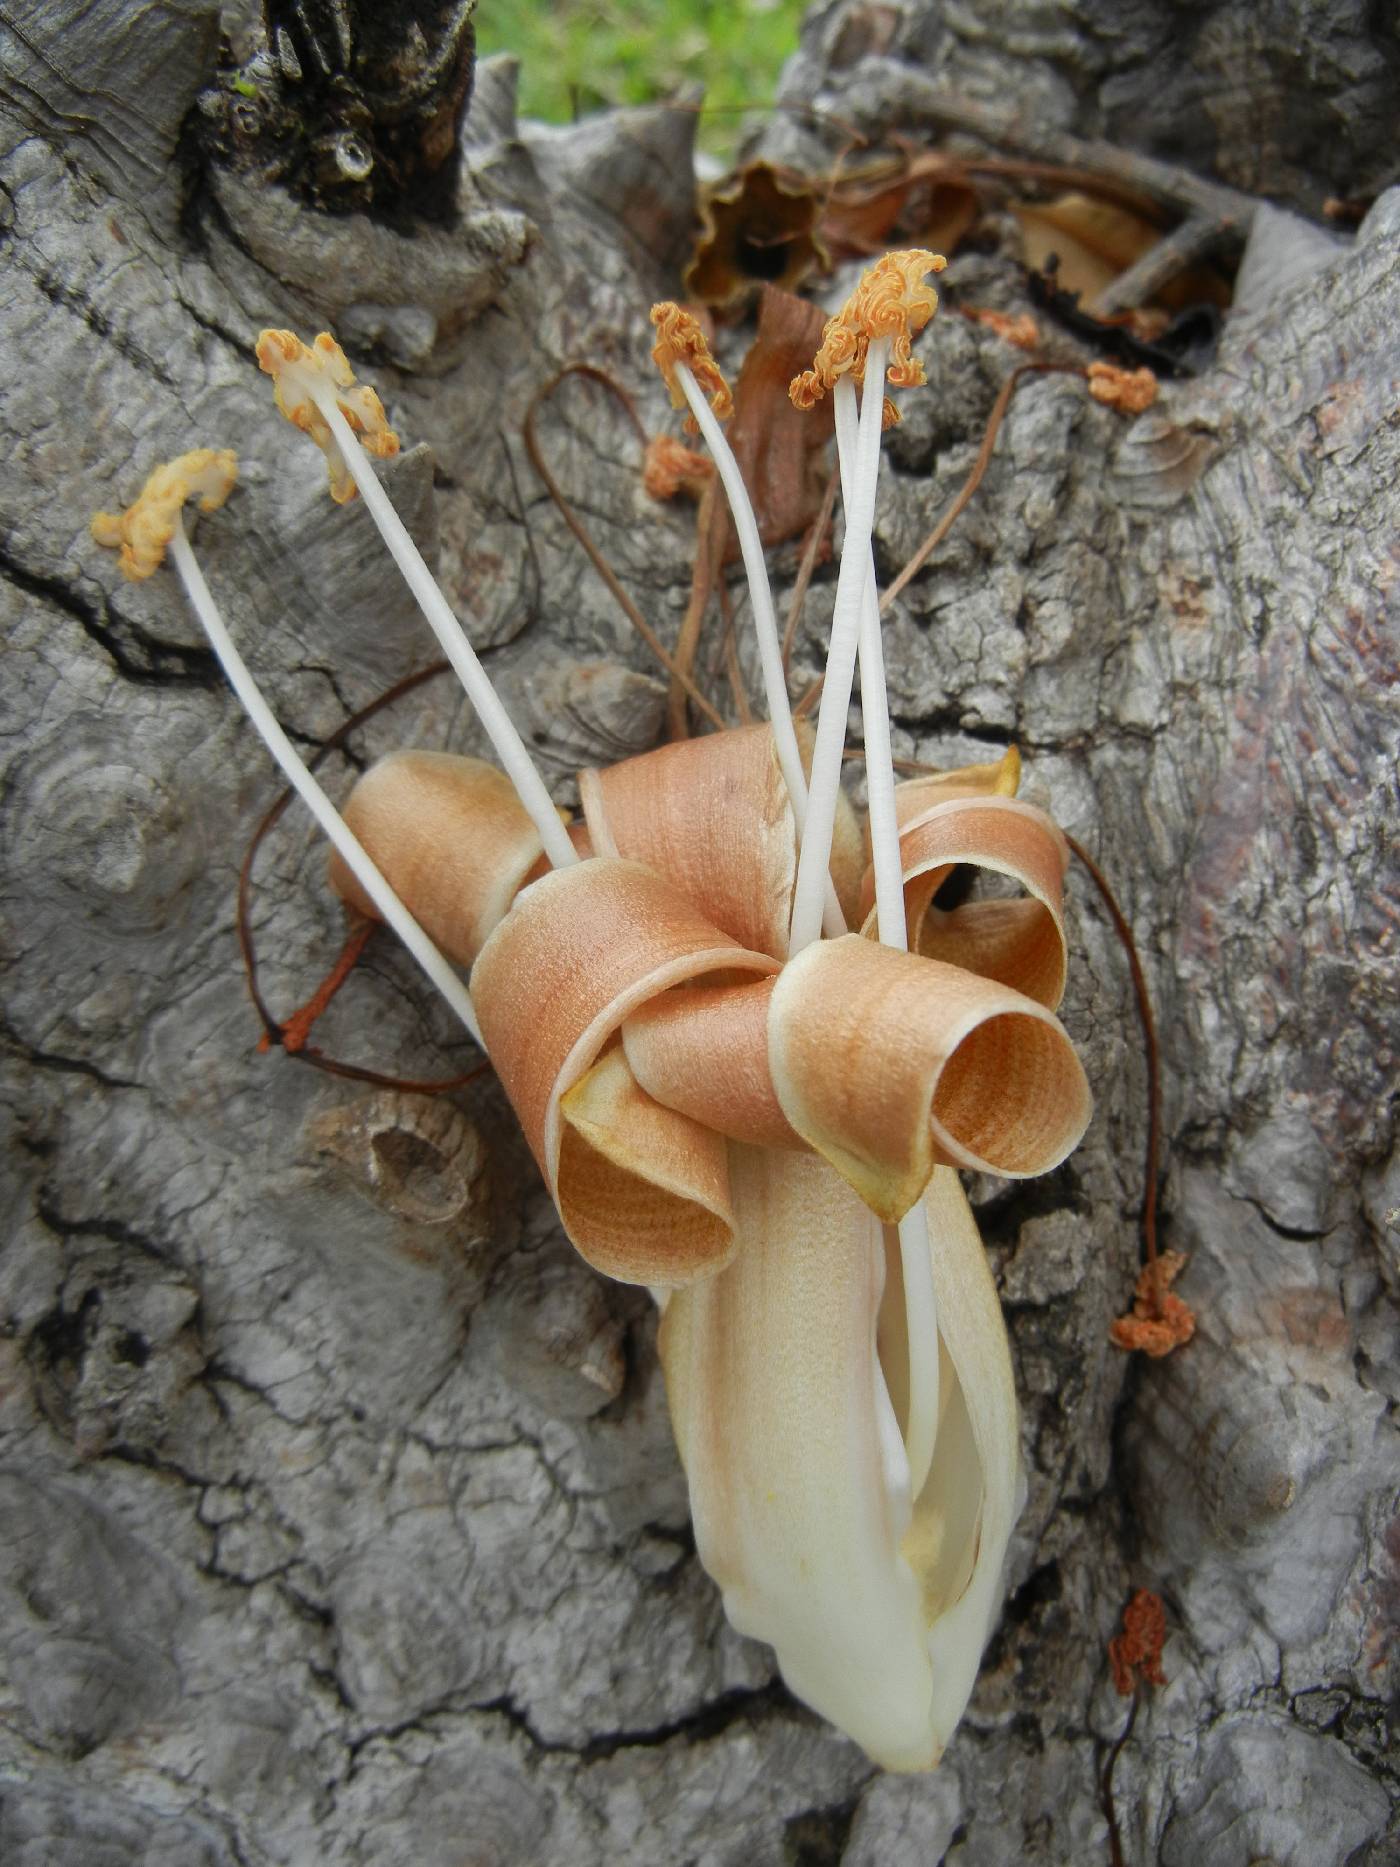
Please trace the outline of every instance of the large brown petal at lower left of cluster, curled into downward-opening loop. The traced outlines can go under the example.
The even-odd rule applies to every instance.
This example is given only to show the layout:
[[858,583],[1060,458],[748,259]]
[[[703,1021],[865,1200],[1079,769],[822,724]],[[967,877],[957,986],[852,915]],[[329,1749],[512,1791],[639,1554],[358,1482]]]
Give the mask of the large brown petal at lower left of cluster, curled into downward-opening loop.
[[[648,1232],[631,1236],[620,1253],[614,1227],[599,1223],[592,1197],[577,1208],[562,1200],[564,1098],[648,999],[707,973],[775,969],[767,954],[739,947],[706,920],[663,876],[607,855],[551,870],[525,889],[482,948],[472,1001],[487,1053],[560,1204],[564,1228],[582,1256],[610,1277],[685,1283],[715,1270],[730,1238],[696,1219],[689,1210],[693,1193],[676,1191],[665,1165],[672,1152],[650,1178],[637,1141],[625,1158],[650,1178],[653,1195],[637,1193]],[[638,1118],[642,1113],[651,1120],[638,1105]],[[581,1133],[577,1120],[567,1126]],[[609,1159],[616,1165],[620,1158],[618,1143]],[[700,1206],[711,1212],[704,1200]]]

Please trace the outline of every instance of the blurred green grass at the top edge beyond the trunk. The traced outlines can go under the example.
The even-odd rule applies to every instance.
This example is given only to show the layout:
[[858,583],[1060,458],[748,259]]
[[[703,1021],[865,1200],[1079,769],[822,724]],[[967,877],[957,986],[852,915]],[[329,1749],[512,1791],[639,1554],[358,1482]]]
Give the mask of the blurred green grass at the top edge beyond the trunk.
[[773,101],[803,0],[480,0],[482,56],[521,60],[521,114],[567,123],[704,86],[700,142],[728,155],[743,110]]

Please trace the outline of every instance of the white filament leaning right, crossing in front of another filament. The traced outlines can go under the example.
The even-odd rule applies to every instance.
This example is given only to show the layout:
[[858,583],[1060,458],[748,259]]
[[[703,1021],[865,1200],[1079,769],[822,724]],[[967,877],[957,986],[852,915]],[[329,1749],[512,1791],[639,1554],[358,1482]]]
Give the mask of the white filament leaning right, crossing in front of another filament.
[[870,577],[870,534],[875,525],[879,433],[885,413],[885,364],[889,362],[889,338],[872,338],[866,357],[861,428],[849,474],[851,497],[846,504],[846,541],[836,577],[836,605],[831,618],[831,642],[827,646],[827,676],[818,711],[806,827],[797,857],[790,941],[793,954],[808,947],[821,928],[823,877],[831,866],[831,838],[836,827],[836,792],[840,790],[842,751],[846,747],[846,713],[851,704],[861,609]]

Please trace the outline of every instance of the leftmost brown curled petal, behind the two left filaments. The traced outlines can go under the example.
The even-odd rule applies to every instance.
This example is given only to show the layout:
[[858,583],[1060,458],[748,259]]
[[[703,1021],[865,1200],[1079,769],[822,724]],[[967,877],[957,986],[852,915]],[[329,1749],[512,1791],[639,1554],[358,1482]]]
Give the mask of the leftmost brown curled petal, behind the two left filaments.
[[[431,939],[470,965],[541,859],[539,831],[504,771],[452,752],[390,752],[360,779],[345,821]],[[330,887],[379,919],[332,851]]]

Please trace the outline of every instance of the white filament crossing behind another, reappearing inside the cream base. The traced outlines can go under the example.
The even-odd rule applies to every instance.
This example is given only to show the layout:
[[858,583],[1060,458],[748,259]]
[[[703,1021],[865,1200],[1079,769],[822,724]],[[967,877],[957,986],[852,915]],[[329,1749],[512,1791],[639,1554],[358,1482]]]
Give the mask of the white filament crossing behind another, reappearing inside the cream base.
[[[870,388],[866,388],[870,394]],[[879,385],[875,394],[881,396]],[[879,403],[877,403],[879,405]],[[836,416],[836,459],[842,467],[842,500],[849,510],[849,480],[859,444],[855,383],[840,377],[833,388]],[[879,631],[875,554],[866,541],[866,579],[861,603],[861,719],[866,743],[866,797],[870,808],[870,859],[875,870],[875,934],[881,945],[909,948],[903,911],[903,863],[900,825],[894,812],[894,758],[890,754],[890,709],[885,689],[885,644]],[[909,1417],[905,1456],[909,1495],[918,1497],[933,1464],[939,1430],[939,1309],[930,1262],[928,1215],[922,1199],[900,1219],[900,1264],[903,1270],[903,1320],[909,1341]]]

